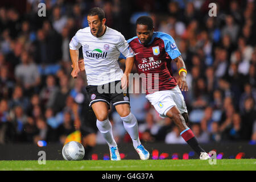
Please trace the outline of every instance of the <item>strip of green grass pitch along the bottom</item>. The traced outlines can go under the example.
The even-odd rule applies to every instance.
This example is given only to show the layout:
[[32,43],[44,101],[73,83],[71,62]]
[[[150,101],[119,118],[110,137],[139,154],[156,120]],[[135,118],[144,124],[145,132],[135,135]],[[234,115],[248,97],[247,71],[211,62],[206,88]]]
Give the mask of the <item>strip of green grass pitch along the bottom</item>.
[[256,171],[256,159],[208,160],[0,160],[1,171]]

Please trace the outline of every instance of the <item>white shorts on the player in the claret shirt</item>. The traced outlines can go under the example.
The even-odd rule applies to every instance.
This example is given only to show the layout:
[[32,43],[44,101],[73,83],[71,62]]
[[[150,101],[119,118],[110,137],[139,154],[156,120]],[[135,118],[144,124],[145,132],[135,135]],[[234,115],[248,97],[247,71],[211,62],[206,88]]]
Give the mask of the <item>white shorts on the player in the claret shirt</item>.
[[179,86],[171,90],[162,90],[155,93],[147,94],[147,100],[155,107],[160,117],[166,118],[166,113],[172,107],[176,106],[180,113],[187,113],[187,106]]

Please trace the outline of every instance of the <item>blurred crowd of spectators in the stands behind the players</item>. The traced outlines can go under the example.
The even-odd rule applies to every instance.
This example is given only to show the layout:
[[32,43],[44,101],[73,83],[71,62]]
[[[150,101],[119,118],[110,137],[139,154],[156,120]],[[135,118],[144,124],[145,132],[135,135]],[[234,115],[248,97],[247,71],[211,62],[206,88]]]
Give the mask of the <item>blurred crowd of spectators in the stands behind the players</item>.
[[[38,16],[40,2],[45,17]],[[217,5],[216,17],[208,14],[210,2]],[[200,143],[256,141],[255,1],[27,0],[23,6],[0,7],[0,143],[63,143],[86,122],[86,77],[70,76],[69,42],[88,26],[86,13],[96,6],[104,9],[106,25],[126,39],[136,35],[141,15],[175,39],[188,70],[183,94],[189,127]],[[130,94],[130,101],[141,140],[185,143],[145,94]],[[117,142],[131,142],[113,106],[109,118]],[[105,143],[100,134],[97,143]]]

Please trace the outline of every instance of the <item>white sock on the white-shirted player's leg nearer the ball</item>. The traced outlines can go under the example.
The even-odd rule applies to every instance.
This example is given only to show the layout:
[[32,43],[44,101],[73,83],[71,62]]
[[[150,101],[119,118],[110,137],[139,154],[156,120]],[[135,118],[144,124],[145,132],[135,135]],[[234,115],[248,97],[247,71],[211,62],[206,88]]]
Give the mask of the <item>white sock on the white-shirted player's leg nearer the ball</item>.
[[99,121],[97,119],[96,125],[98,127],[98,130],[105,138],[106,142],[108,143],[109,147],[116,147],[117,143],[114,140],[113,133],[112,133],[112,125],[109,121],[109,119],[106,119],[105,121]]

